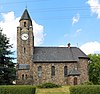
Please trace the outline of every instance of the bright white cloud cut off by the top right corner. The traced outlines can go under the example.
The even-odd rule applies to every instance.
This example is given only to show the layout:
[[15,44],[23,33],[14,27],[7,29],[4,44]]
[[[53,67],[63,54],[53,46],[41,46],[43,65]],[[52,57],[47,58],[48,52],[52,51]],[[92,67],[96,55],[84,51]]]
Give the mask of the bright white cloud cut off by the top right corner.
[[92,13],[97,14],[97,18],[100,18],[100,2],[99,0],[88,0],[87,2],[91,8]]

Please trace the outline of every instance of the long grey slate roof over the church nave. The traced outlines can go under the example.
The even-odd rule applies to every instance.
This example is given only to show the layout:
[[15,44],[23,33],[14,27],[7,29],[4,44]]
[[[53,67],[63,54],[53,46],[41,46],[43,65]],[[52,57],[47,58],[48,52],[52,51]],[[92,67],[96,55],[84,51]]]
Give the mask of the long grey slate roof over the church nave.
[[89,59],[77,47],[35,47],[34,62],[77,62],[79,58]]

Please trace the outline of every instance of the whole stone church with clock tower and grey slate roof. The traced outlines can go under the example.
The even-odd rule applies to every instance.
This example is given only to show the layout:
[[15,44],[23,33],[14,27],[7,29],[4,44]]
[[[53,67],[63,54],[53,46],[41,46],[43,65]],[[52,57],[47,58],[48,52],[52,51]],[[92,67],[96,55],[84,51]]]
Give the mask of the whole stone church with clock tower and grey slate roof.
[[77,85],[88,81],[88,56],[77,47],[35,47],[34,26],[25,9],[17,27],[17,84],[51,82]]

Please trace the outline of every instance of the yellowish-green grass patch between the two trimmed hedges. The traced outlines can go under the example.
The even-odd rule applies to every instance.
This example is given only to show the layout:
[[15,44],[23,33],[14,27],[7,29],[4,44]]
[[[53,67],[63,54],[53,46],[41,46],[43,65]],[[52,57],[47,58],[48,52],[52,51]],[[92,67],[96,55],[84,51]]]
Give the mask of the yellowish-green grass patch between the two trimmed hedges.
[[60,88],[40,89],[36,88],[36,94],[70,94],[69,86],[62,86]]

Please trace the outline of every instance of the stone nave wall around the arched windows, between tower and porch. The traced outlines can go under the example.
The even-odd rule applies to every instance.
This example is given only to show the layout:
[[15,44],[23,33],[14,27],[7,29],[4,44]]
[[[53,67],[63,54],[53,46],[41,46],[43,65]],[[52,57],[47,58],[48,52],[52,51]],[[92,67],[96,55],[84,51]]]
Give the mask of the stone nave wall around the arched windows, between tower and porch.
[[[38,67],[42,66],[42,77],[38,77]],[[51,76],[51,66],[55,66],[55,76]],[[64,77],[64,66],[68,67],[68,71],[72,70],[77,63],[34,63],[33,64],[33,80],[34,84],[52,82],[56,84],[68,84],[68,77]]]

